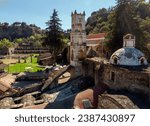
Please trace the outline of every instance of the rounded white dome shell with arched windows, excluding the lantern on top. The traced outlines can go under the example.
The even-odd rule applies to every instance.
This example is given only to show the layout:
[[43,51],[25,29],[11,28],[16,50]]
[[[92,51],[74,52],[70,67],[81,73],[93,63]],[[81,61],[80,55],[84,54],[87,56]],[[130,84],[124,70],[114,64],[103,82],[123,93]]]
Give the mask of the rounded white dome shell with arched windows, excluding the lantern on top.
[[148,65],[144,54],[134,47],[125,47],[118,49],[112,54],[110,63],[122,66]]

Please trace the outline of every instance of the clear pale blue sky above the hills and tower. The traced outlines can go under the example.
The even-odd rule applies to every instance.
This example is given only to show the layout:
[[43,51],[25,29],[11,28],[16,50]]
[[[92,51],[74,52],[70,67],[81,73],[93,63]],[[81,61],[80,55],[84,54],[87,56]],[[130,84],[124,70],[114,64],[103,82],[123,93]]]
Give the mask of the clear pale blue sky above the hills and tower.
[[115,5],[115,0],[0,0],[0,22],[20,21],[36,24],[42,29],[54,9],[58,11],[64,30],[71,27],[71,12],[86,12],[86,18],[93,11]]

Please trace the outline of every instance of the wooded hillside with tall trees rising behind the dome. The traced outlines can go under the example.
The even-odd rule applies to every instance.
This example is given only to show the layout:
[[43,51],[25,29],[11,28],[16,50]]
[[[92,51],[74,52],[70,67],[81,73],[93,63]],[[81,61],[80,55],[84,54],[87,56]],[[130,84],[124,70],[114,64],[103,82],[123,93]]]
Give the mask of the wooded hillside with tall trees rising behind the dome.
[[123,35],[134,34],[136,47],[150,51],[150,3],[144,0],[116,0],[117,5],[95,11],[87,19],[86,31],[105,32],[112,52],[122,47]]

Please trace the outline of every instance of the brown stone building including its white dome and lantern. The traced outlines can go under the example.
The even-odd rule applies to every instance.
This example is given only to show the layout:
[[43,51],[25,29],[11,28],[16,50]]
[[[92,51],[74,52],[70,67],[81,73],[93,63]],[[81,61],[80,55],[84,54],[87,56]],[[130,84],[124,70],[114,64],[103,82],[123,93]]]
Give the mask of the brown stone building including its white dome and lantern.
[[124,37],[124,47],[114,52],[110,62],[103,63],[100,58],[86,59],[83,64],[84,75],[95,78],[111,86],[128,87],[132,84],[149,88],[150,70],[144,54],[136,49],[135,37],[128,34]]

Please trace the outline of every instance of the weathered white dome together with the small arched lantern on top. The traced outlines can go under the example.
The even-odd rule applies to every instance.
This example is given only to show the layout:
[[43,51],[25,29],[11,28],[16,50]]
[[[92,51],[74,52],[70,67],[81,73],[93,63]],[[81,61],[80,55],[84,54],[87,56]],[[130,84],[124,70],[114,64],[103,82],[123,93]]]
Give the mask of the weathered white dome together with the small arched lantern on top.
[[123,48],[114,52],[110,63],[119,66],[147,66],[145,55],[135,48],[135,36],[127,34],[123,37]]

